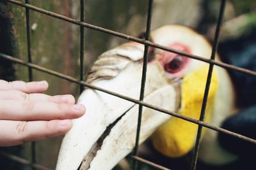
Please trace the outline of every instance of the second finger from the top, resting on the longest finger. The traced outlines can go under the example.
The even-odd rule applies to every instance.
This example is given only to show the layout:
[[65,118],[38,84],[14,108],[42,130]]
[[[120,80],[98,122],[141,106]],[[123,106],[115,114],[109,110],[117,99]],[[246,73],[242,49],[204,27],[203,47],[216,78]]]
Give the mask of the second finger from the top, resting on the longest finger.
[[0,91],[0,99],[2,100],[20,100],[20,101],[45,101],[53,103],[74,104],[75,98],[70,95],[49,96],[46,94],[26,94],[19,90]]

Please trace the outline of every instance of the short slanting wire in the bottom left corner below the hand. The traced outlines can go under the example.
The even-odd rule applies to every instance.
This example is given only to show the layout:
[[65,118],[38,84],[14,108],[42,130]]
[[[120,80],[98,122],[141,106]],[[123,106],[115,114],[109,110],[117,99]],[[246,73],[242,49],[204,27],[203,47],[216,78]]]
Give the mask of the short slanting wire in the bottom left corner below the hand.
[[44,167],[41,166],[39,164],[33,164],[32,162],[30,162],[29,160],[23,159],[21,157],[18,157],[16,155],[12,155],[10,153],[6,153],[6,152],[1,152],[0,151],[0,156],[1,157],[5,157],[7,159],[11,159],[14,160],[16,162],[19,162],[20,164],[26,165],[26,166],[30,166],[30,167],[34,167],[35,169],[40,169],[40,170],[51,170],[48,167]]

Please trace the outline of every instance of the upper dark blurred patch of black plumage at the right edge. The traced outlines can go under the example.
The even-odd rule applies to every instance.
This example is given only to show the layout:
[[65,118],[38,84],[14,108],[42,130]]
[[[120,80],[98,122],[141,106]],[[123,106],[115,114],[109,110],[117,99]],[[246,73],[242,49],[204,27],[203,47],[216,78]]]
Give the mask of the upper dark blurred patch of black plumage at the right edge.
[[[220,43],[220,55],[228,64],[256,71],[256,31]],[[256,104],[256,77],[234,70],[228,72],[236,87],[238,106],[246,108]]]

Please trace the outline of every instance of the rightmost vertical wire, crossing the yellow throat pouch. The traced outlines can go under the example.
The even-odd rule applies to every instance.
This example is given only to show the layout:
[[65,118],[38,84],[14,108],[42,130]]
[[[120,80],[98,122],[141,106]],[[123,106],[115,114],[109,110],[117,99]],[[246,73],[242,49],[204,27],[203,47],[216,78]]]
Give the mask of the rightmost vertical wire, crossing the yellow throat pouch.
[[[216,51],[218,49],[220,29],[221,29],[221,23],[222,23],[224,11],[225,11],[226,1],[227,0],[221,0],[220,14],[218,17],[218,23],[217,23],[217,27],[216,27],[216,31],[215,31],[214,44],[212,46],[211,60],[215,59]],[[208,71],[208,75],[207,75],[207,81],[206,81],[206,85],[205,85],[204,98],[203,98],[202,108],[201,108],[201,113],[200,113],[200,119],[199,119],[200,121],[204,121],[205,110],[206,110],[206,105],[207,105],[207,98],[208,98],[209,89],[210,89],[210,85],[211,85],[213,66],[214,66],[214,64],[210,63],[209,71]],[[202,136],[202,128],[203,128],[202,125],[198,125],[195,150],[194,150],[194,155],[193,155],[193,159],[191,162],[191,170],[196,169],[196,162],[198,159],[198,151],[199,151],[199,146],[200,146],[200,138]]]

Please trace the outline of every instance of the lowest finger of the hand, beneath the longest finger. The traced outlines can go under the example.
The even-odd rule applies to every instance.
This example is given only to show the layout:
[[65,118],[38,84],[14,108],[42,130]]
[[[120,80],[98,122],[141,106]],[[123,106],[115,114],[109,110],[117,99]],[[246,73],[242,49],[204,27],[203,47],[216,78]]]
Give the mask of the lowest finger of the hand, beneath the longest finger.
[[20,122],[0,120],[0,146],[13,146],[65,134],[72,127],[70,120]]

